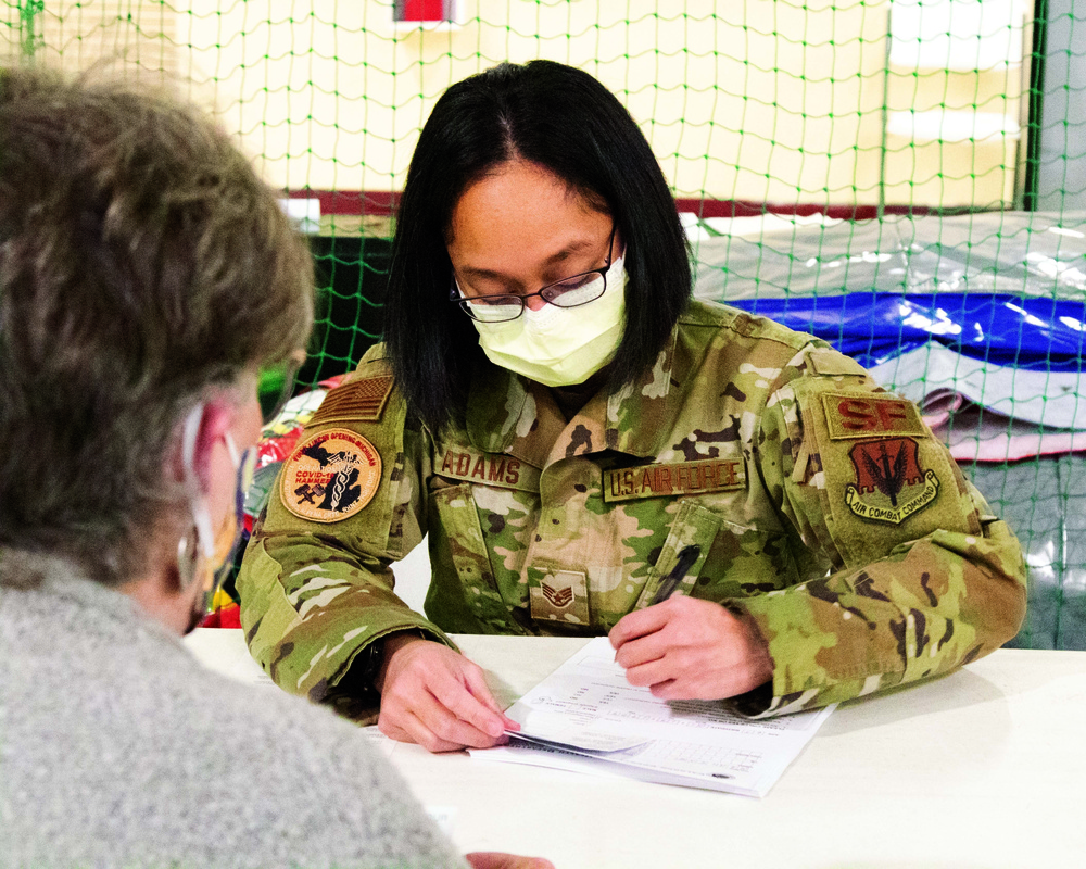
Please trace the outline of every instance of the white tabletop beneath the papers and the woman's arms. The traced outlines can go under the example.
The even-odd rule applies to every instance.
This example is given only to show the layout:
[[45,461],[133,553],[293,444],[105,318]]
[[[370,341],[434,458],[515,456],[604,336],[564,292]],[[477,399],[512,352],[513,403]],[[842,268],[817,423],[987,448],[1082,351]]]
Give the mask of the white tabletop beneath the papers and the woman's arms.
[[[240,633],[187,642],[215,669],[263,677]],[[507,703],[583,642],[456,641]],[[464,851],[538,854],[559,869],[1086,866],[1082,652],[1001,650],[843,704],[763,799],[378,745],[422,803],[456,808]]]

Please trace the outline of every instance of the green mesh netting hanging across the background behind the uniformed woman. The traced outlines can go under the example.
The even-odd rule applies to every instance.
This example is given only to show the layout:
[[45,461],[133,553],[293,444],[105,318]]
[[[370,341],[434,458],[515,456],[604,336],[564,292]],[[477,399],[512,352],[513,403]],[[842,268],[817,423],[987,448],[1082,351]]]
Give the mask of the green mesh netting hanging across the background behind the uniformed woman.
[[[443,21],[397,21],[419,12]],[[588,70],[658,155],[698,294],[942,419],[1028,552],[1020,641],[1078,647],[1084,32],[1084,0],[0,0],[10,56],[181,81],[294,200],[323,298],[306,387],[380,336],[395,192],[444,88]]]

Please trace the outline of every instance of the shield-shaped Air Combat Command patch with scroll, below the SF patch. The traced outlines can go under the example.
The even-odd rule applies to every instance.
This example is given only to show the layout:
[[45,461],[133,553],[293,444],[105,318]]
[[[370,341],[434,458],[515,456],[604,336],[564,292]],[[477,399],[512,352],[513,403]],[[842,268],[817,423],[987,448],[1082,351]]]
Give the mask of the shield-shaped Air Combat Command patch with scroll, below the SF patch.
[[912,438],[858,441],[848,451],[856,483],[845,487],[845,504],[861,519],[900,525],[935,502],[939,479],[920,466]]

